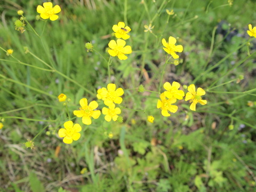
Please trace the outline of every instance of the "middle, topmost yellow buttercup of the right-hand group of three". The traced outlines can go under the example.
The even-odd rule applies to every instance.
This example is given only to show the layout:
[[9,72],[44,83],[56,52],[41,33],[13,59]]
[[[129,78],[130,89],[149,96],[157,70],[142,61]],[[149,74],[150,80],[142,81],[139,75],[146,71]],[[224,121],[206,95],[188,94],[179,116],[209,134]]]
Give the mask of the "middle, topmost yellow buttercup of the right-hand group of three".
[[176,99],[183,99],[185,96],[184,91],[179,90],[180,84],[178,82],[173,82],[172,85],[169,82],[164,83],[164,92],[165,97],[171,99],[172,97]]

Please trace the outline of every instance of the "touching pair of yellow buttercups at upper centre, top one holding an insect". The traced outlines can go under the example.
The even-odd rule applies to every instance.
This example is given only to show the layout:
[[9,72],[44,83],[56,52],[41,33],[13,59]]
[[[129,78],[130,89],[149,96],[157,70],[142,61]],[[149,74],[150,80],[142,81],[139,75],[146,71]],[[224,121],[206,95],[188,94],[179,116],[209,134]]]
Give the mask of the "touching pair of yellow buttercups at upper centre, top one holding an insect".
[[[111,40],[108,43],[108,46],[110,48],[108,50],[108,53],[112,57],[117,56],[118,59],[125,60],[125,59],[127,59],[127,56],[125,54],[132,53],[132,48],[130,45],[125,46],[126,42],[123,39],[130,38],[130,35],[128,35],[127,33],[129,33],[131,31],[131,28],[128,26],[125,27],[124,22],[118,22],[118,24],[114,25],[112,29],[114,30],[115,36],[118,39],[117,39],[117,41]],[[121,38],[123,38],[123,39],[121,39]]]

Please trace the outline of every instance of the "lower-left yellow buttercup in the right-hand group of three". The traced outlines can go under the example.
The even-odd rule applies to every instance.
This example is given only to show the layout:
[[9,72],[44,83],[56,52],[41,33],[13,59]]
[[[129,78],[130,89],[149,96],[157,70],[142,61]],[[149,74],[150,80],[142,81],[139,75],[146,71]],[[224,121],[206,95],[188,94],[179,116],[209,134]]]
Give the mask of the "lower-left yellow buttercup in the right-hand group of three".
[[178,106],[174,106],[171,104],[175,103],[177,99],[175,99],[174,97],[172,97],[171,99],[166,99],[164,93],[160,95],[160,99],[161,100],[158,99],[157,101],[157,108],[161,108],[163,116],[170,116],[168,111],[170,111],[171,113],[176,113],[176,111],[178,110]]

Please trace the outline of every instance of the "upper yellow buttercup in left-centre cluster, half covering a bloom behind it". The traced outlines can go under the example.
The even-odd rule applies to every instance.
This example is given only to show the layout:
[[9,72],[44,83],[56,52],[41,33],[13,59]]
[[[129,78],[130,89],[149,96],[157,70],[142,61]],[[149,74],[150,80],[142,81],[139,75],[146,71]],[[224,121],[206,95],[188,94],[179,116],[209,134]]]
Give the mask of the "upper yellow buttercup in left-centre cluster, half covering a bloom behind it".
[[120,97],[124,94],[124,90],[122,88],[118,88],[116,90],[116,85],[114,83],[109,83],[107,89],[101,89],[102,98],[104,98],[104,104],[106,106],[111,105],[111,103],[120,104],[123,99]]

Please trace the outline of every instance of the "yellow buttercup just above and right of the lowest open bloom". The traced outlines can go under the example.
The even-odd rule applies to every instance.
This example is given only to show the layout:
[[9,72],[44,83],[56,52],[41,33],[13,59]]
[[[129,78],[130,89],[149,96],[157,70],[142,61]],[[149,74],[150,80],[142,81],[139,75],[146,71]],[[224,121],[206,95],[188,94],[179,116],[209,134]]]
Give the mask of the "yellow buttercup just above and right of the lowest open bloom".
[[99,106],[98,103],[96,101],[92,101],[89,103],[89,105],[87,105],[86,98],[81,99],[79,103],[81,105],[81,107],[79,108],[80,110],[74,110],[74,115],[77,117],[82,117],[83,124],[91,125],[91,117],[97,119],[100,116],[100,110],[94,110]]

